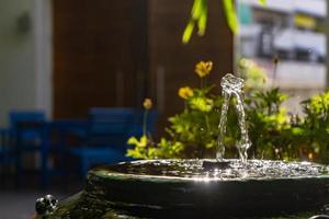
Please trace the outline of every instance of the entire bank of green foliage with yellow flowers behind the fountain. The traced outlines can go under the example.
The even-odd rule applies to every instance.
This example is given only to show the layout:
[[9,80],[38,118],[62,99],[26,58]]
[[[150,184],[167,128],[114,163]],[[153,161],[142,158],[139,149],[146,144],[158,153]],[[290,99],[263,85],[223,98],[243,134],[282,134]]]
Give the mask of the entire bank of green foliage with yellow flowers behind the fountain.
[[[215,158],[223,104],[222,94],[216,89],[204,83],[202,88],[183,88],[179,95],[185,107],[182,113],[169,118],[167,137],[158,143],[147,135],[140,139],[132,137],[128,143],[134,148],[127,151],[127,155],[137,159]],[[287,113],[282,103],[288,96],[277,88],[247,88],[245,93],[247,126],[252,143],[249,158],[328,163],[329,92],[304,101],[303,116]],[[240,129],[235,102],[232,99],[224,139],[227,158],[237,158],[238,154],[235,145],[240,138]]]

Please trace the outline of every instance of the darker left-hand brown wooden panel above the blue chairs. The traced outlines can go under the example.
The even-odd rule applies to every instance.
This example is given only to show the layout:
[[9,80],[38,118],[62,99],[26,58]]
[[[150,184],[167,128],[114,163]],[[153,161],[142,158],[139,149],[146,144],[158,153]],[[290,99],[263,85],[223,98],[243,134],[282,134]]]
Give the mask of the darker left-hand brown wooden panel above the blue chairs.
[[86,117],[93,106],[141,101],[136,88],[146,71],[146,59],[139,58],[147,50],[146,2],[53,1],[55,118]]

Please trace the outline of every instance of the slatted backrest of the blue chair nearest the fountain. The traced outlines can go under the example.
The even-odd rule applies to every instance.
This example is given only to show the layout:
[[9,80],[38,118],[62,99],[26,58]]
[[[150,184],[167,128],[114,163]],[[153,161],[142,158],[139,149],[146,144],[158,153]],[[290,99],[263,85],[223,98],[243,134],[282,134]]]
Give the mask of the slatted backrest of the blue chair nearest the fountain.
[[124,145],[133,108],[91,108],[89,111],[89,145]]

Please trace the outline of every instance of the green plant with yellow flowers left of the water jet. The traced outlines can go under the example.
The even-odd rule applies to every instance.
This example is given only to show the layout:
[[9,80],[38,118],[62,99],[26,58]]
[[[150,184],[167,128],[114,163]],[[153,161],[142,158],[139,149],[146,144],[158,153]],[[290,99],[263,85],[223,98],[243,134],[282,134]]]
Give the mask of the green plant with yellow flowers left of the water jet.
[[192,90],[184,87],[179,90],[185,108],[183,113],[169,118],[171,126],[166,131],[170,138],[162,138],[159,143],[151,143],[144,138],[144,143],[140,143],[132,137],[128,143],[135,148],[128,150],[128,155],[139,159],[198,158],[206,157],[208,150],[214,149],[219,119],[214,110],[219,107],[222,99],[211,94],[213,85],[206,85],[205,77],[212,68],[211,61],[197,64],[195,73],[200,77],[202,88]]

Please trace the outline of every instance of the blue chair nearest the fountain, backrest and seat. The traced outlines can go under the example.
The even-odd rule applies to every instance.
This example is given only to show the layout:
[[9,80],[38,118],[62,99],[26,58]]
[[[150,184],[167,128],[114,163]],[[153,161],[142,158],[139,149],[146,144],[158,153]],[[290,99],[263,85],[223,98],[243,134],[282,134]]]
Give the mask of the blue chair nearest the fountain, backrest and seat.
[[126,140],[134,124],[132,108],[91,108],[87,137],[81,147],[70,149],[79,158],[84,176],[91,165],[111,164],[131,160],[125,157]]

